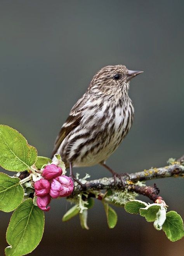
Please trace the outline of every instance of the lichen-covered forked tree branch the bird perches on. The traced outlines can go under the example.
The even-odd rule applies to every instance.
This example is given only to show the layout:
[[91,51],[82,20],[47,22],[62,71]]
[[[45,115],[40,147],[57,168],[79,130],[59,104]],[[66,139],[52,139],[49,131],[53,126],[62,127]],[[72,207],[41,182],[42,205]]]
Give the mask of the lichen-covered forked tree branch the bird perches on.
[[101,178],[98,180],[87,181],[82,187],[81,185],[76,185],[73,191],[73,194],[78,194],[82,191],[93,191],[101,189],[127,189],[130,192],[137,192],[138,194],[143,194],[148,196],[152,201],[158,202],[163,200],[161,196],[158,196],[159,189],[154,184],[151,186],[139,186],[135,183],[138,181],[153,180],[158,178],[167,178],[167,177],[183,177],[184,178],[184,165],[182,165],[183,159],[179,159],[181,162],[172,162],[171,165],[160,167],[160,168],[151,168],[148,170],[130,173],[128,176],[122,175],[123,183],[120,179],[114,178]]

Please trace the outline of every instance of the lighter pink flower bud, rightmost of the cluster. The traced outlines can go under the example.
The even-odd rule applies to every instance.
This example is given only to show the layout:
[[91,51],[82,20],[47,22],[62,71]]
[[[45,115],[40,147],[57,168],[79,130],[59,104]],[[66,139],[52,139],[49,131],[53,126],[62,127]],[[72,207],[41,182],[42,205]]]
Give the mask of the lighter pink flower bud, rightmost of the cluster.
[[58,196],[69,196],[73,191],[73,181],[66,175],[61,175],[52,180],[50,188],[50,196],[57,198]]

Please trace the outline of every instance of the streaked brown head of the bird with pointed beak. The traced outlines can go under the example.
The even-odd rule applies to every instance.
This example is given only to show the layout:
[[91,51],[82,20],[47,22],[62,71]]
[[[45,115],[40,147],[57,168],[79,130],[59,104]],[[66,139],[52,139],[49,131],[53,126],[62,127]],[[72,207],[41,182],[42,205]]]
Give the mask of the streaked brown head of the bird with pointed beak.
[[124,65],[103,67],[94,75],[89,90],[98,95],[115,95],[119,92],[127,94],[130,79],[142,72],[128,70]]

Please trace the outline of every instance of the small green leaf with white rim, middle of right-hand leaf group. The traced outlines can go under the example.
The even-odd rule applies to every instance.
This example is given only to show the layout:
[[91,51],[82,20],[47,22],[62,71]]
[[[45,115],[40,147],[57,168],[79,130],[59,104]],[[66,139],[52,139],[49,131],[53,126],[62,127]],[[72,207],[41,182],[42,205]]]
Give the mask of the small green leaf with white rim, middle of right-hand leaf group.
[[140,215],[145,217],[146,221],[153,222],[156,220],[156,214],[160,210],[161,205],[152,203],[145,208],[140,208]]

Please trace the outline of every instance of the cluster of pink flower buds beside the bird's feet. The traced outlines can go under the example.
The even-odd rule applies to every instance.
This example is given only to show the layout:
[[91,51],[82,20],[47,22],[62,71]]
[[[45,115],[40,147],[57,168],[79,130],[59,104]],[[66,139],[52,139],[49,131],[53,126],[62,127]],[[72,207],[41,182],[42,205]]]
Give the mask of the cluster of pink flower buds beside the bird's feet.
[[34,184],[37,205],[43,211],[49,211],[50,199],[69,196],[73,191],[73,181],[62,175],[62,169],[55,164],[49,164],[43,169],[42,177]]

